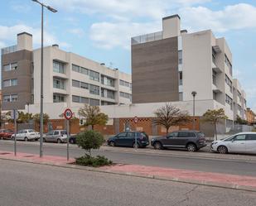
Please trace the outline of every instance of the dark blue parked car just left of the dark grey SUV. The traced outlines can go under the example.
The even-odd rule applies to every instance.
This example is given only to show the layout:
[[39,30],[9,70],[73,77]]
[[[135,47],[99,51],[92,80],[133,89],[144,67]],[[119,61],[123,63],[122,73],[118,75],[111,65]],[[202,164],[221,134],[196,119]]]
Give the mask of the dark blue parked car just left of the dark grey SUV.
[[145,132],[122,132],[108,139],[109,146],[133,146],[136,147],[135,137],[137,137],[137,146],[146,147],[149,145],[148,136]]

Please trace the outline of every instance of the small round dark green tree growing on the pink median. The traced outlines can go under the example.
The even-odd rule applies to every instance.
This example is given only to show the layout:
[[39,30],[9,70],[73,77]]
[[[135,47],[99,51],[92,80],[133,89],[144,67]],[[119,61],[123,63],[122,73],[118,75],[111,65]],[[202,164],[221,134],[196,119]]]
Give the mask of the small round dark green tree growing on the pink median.
[[81,132],[76,137],[76,143],[85,151],[88,151],[89,157],[91,157],[91,150],[92,149],[99,149],[100,146],[104,143],[104,137],[101,133],[95,132],[93,130]]

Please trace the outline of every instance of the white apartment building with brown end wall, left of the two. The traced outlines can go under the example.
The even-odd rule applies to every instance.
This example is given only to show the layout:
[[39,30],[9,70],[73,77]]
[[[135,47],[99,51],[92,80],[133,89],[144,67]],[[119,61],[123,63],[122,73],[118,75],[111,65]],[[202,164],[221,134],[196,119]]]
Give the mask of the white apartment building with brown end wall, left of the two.
[[[31,34],[18,34],[17,46],[2,49],[2,110],[22,110],[30,105],[31,111],[39,112],[40,74],[41,49],[33,50]],[[57,45],[44,48],[46,108],[128,104],[131,88],[130,74],[60,50]]]

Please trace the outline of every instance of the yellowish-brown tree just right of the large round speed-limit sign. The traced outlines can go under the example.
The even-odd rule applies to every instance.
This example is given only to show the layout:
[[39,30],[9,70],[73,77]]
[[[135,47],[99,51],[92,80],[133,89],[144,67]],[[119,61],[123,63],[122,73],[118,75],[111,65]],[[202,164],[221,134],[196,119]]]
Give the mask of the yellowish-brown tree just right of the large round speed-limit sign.
[[91,125],[92,130],[94,130],[95,125],[105,125],[108,122],[108,115],[100,113],[98,106],[89,106],[85,104],[84,108],[80,108],[78,111],[80,117],[85,117],[85,126]]

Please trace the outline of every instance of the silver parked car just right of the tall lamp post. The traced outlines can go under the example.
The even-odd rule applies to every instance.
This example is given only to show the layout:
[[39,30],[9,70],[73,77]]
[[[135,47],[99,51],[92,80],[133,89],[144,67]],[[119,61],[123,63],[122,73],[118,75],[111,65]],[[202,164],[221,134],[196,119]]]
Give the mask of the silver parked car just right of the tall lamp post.
[[64,143],[67,141],[67,132],[65,130],[52,130],[44,135],[43,141]]

